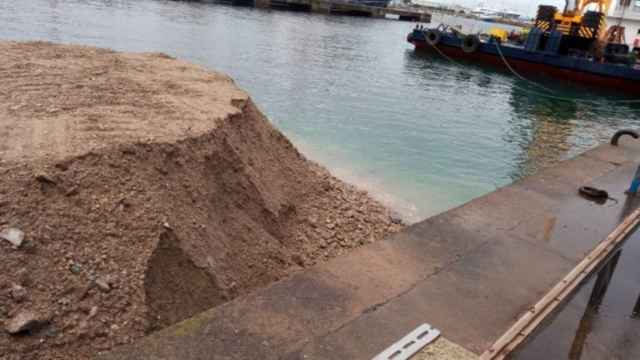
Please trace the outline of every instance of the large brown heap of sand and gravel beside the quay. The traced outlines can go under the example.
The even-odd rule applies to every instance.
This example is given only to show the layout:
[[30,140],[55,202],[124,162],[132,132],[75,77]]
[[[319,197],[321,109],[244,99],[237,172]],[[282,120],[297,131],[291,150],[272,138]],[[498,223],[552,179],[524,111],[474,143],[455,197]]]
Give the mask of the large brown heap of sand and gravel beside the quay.
[[90,358],[402,227],[226,76],[5,42],[0,78],[0,359]]

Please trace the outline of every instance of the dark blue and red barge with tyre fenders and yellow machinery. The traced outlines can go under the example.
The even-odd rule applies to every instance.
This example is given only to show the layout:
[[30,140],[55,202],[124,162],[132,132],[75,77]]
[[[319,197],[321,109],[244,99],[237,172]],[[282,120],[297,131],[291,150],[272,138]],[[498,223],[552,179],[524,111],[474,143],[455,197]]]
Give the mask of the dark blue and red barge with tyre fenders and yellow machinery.
[[[560,16],[559,16],[560,14]],[[541,6],[534,27],[523,36],[464,34],[456,28],[416,27],[407,37],[416,51],[448,59],[495,65],[515,75],[545,74],[593,86],[640,95],[640,65],[624,41],[608,41],[624,29],[601,32],[604,12],[589,11],[563,22],[557,9]],[[576,19],[578,24],[576,27]],[[599,50],[598,50],[599,49]]]

